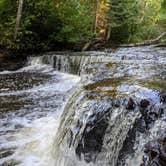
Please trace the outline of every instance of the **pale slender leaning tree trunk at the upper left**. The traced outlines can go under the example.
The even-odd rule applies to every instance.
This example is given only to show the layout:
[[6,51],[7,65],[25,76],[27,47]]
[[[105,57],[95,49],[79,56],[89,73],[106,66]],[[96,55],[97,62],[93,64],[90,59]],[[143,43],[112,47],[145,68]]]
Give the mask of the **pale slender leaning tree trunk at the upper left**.
[[20,29],[21,25],[21,17],[22,17],[22,11],[23,11],[23,3],[24,0],[19,0],[18,3],[18,10],[17,10],[17,18],[16,18],[16,25],[15,25],[15,33],[14,33],[14,39],[16,40],[18,31]]

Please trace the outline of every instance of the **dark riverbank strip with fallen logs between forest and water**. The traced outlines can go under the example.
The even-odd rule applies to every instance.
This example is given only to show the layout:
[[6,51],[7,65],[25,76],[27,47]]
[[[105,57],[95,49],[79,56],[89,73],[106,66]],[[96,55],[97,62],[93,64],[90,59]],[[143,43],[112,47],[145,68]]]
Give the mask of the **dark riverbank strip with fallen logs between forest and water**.
[[6,49],[4,47],[0,47],[0,58],[16,58],[22,57],[26,58],[32,54],[41,54],[46,52],[54,52],[54,51],[70,51],[70,52],[81,52],[81,51],[103,51],[105,49],[114,50],[120,47],[139,47],[139,46],[148,46],[155,45],[155,47],[166,47],[166,41],[160,41],[156,43],[111,43],[105,42],[100,39],[94,39],[89,42],[77,43],[77,44],[64,44],[64,43],[56,43],[53,47],[50,48],[40,48],[40,49]]

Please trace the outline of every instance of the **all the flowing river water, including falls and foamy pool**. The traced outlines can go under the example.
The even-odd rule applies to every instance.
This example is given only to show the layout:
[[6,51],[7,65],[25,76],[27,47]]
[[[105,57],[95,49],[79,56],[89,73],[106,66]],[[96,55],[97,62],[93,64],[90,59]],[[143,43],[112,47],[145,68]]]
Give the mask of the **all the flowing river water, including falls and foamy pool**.
[[165,48],[31,57],[0,73],[0,165],[140,166],[165,102]]

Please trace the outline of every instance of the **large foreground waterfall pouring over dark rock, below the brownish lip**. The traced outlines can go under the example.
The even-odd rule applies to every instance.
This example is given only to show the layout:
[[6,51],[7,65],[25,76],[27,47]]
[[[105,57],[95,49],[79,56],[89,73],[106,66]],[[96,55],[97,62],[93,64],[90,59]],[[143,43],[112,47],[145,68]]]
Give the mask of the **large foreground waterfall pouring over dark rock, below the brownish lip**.
[[[140,89],[137,98],[126,96],[101,101],[91,100],[85,91],[78,90],[68,101],[61,117],[55,141],[55,165],[116,166],[129,132],[142,119],[140,109],[146,110],[140,106],[144,101],[139,98],[141,93],[144,92]],[[155,95],[158,97],[157,92]],[[163,105],[154,101],[149,107],[153,113],[156,109],[159,112]],[[143,124],[138,127],[145,127]]]

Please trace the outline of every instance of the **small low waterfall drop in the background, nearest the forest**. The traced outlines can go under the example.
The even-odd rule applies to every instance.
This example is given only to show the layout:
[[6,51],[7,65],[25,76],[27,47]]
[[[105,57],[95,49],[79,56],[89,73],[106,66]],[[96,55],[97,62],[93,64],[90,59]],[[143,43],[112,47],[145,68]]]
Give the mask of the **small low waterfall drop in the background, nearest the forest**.
[[76,75],[82,75],[90,64],[106,61],[110,61],[108,56],[89,56],[82,53],[51,53],[42,57],[42,62],[44,64],[50,64],[55,70]]

